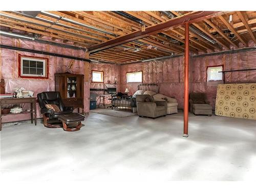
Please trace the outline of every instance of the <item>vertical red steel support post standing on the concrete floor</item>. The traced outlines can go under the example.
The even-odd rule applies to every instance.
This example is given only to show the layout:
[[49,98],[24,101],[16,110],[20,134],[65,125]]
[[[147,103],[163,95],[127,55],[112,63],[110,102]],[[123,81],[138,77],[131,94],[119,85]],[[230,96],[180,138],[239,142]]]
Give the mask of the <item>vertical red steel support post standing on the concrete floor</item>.
[[184,133],[183,133],[183,137],[188,137],[188,66],[189,66],[189,23],[185,23]]

